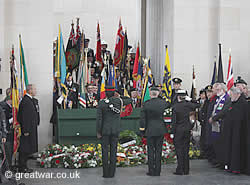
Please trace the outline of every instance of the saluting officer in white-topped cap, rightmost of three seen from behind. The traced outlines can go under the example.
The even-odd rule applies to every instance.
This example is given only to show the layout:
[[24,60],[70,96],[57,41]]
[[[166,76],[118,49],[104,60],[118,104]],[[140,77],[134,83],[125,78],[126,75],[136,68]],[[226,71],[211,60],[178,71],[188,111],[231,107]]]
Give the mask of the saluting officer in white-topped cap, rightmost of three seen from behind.
[[173,106],[173,127],[172,133],[174,135],[174,145],[177,155],[177,168],[175,175],[189,174],[189,144],[190,132],[193,124],[190,121],[190,112],[199,108],[199,104],[187,102],[186,91],[177,91],[178,102]]

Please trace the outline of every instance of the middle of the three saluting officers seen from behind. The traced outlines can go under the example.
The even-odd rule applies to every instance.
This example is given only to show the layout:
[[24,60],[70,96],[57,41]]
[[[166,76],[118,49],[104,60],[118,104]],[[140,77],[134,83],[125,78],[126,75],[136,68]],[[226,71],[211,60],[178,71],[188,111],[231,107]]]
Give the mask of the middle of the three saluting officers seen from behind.
[[161,173],[163,137],[167,132],[163,113],[170,107],[169,103],[158,96],[159,89],[152,87],[151,99],[144,103],[141,111],[140,131],[145,132],[147,136],[149,176],[160,176]]

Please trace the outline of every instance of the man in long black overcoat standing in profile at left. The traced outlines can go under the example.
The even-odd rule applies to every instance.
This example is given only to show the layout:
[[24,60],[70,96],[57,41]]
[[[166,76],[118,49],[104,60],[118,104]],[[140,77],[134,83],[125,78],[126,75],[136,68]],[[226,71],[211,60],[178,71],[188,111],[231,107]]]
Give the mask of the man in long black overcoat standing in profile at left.
[[17,120],[21,126],[21,138],[19,146],[19,172],[31,173],[27,167],[29,155],[38,151],[37,126],[39,125],[38,101],[34,100],[36,87],[27,86],[27,93],[23,97],[17,114]]

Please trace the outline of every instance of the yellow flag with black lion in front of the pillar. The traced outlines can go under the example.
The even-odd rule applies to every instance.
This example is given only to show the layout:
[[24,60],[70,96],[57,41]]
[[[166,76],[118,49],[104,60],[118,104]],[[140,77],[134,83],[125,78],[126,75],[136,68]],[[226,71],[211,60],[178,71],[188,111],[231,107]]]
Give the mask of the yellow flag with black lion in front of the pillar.
[[168,56],[167,46],[166,46],[164,77],[163,77],[163,83],[162,83],[162,95],[166,99],[166,101],[171,103],[171,96],[172,96],[171,69],[170,69],[170,60]]

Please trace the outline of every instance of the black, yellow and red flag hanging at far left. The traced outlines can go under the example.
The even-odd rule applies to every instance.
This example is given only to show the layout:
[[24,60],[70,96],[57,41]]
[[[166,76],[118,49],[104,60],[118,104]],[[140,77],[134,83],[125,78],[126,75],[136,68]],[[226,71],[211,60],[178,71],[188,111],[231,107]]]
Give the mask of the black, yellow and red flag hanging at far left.
[[21,136],[21,127],[17,121],[17,112],[19,106],[19,93],[18,93],[18,73],[17,66],[14,56],[14,47],[11,51],[11,98],[12,98],[12,115],[13,115],[13,129],[14,129],[14,145],[13,145],[13,154],[16,158],[16,153],[20,145],[20,136]]

